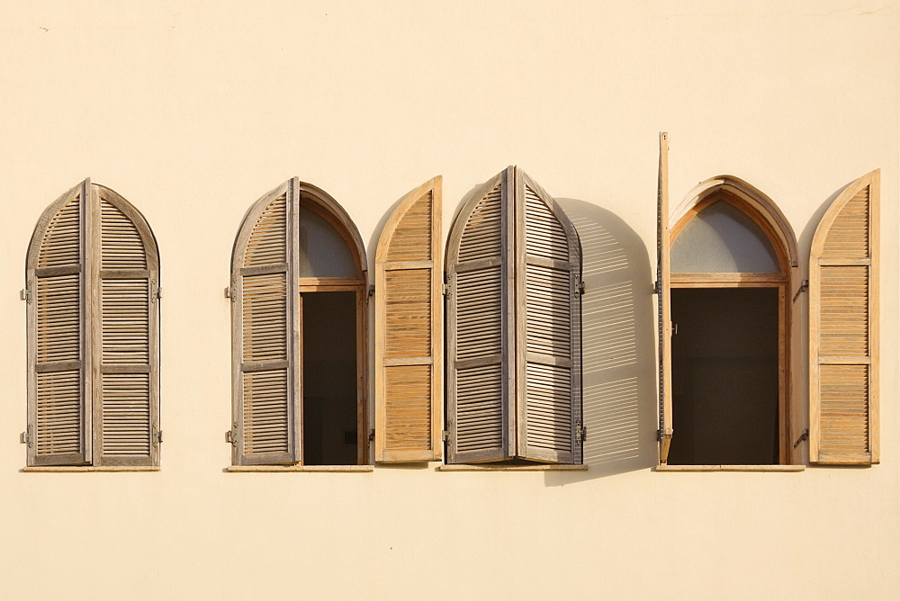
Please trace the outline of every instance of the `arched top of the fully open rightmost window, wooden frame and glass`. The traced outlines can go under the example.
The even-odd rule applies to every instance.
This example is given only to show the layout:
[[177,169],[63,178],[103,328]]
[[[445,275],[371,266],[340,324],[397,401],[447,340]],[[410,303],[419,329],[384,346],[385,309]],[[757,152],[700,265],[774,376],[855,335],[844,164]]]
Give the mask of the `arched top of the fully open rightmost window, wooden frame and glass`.
[[788,220],[767,195],[733,175],[698,184],[671,223],[673,274],[787,274],[797,267]]

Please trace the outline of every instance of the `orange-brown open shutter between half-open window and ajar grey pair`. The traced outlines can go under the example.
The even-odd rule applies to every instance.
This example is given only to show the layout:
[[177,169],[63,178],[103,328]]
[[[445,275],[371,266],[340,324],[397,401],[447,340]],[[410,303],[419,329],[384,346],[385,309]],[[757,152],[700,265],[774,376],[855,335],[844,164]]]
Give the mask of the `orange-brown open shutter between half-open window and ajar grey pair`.
[[440,459],[441,177],[407,194],[375,254],[375,461]]

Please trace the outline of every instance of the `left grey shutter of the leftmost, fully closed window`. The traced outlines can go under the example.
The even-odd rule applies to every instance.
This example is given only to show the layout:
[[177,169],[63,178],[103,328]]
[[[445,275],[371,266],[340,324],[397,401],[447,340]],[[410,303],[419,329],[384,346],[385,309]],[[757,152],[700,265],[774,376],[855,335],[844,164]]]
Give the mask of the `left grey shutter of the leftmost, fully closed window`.
[[85,180],[53,202],[31,238],[28,301],[28,465],[91,462],[86,348]]

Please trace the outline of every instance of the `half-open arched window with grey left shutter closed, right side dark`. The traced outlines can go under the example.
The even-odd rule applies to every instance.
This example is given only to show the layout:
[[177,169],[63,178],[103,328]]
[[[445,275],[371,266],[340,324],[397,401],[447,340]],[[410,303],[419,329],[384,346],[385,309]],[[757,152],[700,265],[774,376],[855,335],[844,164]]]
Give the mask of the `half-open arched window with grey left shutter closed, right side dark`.
[[293,178],[244,217],[231,257],[235,465],[368,462],[362,238]]

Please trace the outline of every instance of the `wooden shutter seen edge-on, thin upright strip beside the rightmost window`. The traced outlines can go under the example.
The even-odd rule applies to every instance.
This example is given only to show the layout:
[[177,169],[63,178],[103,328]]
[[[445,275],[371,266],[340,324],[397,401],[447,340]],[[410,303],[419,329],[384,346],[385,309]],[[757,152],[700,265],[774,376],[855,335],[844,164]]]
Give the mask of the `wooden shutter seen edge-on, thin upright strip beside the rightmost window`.
[[669,270],[669,134],[660,132],[660,169],[656,197],[656,293],[660,378],[660,463],[669,459],[672,439],[671,274]]

